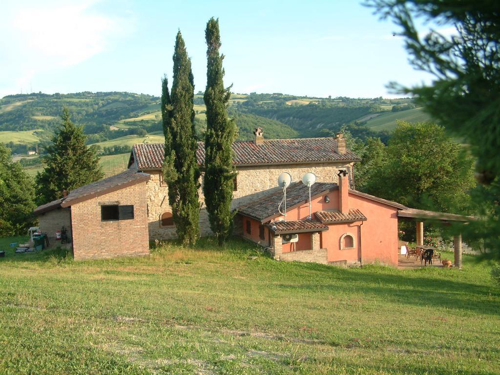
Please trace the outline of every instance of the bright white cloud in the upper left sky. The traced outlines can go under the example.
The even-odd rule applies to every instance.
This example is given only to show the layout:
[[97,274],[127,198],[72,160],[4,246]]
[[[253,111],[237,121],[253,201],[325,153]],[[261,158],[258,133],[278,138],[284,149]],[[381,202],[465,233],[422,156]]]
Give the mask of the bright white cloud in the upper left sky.
[[[34,1],[0,5],[5,22],[0,24],[0,97],[26,92],[31,80],[44,71],[54,71],[85,61],[108,49],[114,40],[132,29],[132,16],[105,14],[99,0]],[[3,9],[2,9],[3,8]]]

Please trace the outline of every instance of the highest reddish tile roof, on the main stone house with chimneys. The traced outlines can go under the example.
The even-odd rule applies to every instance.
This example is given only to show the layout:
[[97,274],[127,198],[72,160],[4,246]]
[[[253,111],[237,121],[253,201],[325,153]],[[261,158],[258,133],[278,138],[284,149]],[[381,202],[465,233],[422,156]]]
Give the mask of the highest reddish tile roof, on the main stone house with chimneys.
[[[335,152],[335,138],[297,138],[297,139],[266,139],[262,144],[243,140],[232,143],[233,164],[284,164],[328,161],[359,160],[354,152],[346,150],[344,154]],[[130,164],[135,161],[137,169],[161,168],[164,158],[162,143],[134,144],[130,155]],[[205,160],[203,142],[198,142],[196,150],[198,164]]]

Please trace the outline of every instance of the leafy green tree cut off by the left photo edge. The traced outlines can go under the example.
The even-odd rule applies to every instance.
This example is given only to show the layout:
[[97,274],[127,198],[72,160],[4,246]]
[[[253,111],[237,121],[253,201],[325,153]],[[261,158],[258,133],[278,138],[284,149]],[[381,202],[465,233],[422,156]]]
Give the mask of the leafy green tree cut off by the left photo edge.
[[35,208],[33,179],[0,143],[0,237],[26,234]]

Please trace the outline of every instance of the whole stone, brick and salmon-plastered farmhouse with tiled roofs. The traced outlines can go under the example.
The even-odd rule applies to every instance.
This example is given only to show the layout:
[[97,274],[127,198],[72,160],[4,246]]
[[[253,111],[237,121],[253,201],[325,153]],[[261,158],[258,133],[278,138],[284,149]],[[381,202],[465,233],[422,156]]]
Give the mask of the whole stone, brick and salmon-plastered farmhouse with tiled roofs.
[[[237,209],[235,233],[267,248],[278,260],[397,265],[398,217],[420,219],[420,243],[421,218],[464,221],[458,215],[412,210],[356,191],[354,163],[359,157],[346,148],[341,133],[264,139],[257,128],[253,140],[235,141],[232,150],[237,171],[232,201]],[[64,225],[75,259],[148,254],[150,241],[176,236],[161,173],[163,158],[161,143],[133,145],[126,171],[37,207],[40,230],[53,239]],[[202,165],[203,142],[198,142],[196,158]],[[278,209],[283,193],[276,182],[282,172],[292,181],[300,181],[306,172],[316,175],[310,216],[308,188],[295,182],[287,189],[283,220]],[[199,199],[200,233],[209,235],[201,188]]]

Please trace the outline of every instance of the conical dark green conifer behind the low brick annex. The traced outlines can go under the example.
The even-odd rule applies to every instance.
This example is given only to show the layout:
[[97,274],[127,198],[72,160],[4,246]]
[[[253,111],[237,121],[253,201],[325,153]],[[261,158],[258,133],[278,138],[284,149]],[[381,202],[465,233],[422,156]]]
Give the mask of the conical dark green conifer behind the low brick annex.
[[36,174],[37,201],[42,204],[103,177],[94,147],[87,147],[83,127],[74,125],[67,108],[62,110],[62,126],[47,146],[45,168]]

